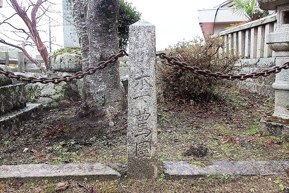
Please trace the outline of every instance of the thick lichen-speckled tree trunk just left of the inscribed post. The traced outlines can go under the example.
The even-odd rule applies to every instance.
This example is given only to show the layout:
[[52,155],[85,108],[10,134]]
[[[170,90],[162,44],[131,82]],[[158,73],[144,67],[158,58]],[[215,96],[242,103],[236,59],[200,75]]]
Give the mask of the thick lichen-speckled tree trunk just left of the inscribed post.
[[[89,66],[106,61],[118,53],[117,16],[119,0],[90,0],[87,10],[87,35],[89,39]],[[108,64],[94,75],[86,76],[87,99],[104,107],[108,112],[124,108],[124,93],[121,90],[119,62]]]

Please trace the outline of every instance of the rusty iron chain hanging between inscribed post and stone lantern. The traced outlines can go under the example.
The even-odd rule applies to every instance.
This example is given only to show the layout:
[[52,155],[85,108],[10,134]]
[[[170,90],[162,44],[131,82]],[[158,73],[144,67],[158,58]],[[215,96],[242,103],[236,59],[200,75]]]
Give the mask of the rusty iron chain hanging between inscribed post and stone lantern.
[[281,72],[282,69],[289,69],[289,62],[284,63],[282,66],[273,66],[270,69],[264,69],[260,72],[251,72],[249,74],[224,74],[220,72],[213,73],[210,70],[202,70],[199,67],[196,66],[189,66],[189,64],[185,62],[179,62],[179,60],[176,57],[173,56],[167,56],[165,52],[161,52],[159,54],[156,54],[156,56],[159,56],[160,59],[166,59],[168,63],[166,65],[168,66],[178,66],[182,70],[189,70],[194,74],[201,74],[205,77],[214,77],[216,79],[227,79],[227,80],[247,80],[248,78],[255,79],[258,78],[259,76],[269,76],[271,73],[277,74]]

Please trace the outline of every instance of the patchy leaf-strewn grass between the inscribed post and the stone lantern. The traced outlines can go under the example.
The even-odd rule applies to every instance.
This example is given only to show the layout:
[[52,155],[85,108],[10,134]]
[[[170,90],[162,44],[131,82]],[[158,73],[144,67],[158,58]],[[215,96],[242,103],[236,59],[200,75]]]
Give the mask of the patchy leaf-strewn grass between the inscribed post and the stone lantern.
[[[235,87],[222,90],[221,101],[159,104],[159,159],[208,165],[211,161],[288,160],[287,138],[259,132],[262,116],[272,115],[274,99]],[[208,148],[206,157],[186,157],[190,146]]]

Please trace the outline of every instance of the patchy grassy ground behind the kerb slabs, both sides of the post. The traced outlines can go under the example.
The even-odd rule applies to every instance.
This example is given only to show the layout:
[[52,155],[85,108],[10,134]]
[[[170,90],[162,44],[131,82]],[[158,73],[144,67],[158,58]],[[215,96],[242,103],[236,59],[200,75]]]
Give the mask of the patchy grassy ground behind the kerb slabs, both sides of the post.
[[[274,99],[224,87],[220,101],[203,104],[158,103],[160,161],[188,161],[199,166],[212,161],[289,159],[287,138],[259,132],[259,120],[270,116]],[[46,109],[0,144],[0,164],[63,164],[127,162],[127,114],[102,120],[79,115],[79,102]],[[109,122],[114,126],[110,127]],[[63,124],[71,131],[55,139],[39,137],[47,125]],[[205,157],[184,156],[191,146],[208,149]],[[25,148],[26,153],[23,153]],[[34,151],[31,151],[31,150]]]

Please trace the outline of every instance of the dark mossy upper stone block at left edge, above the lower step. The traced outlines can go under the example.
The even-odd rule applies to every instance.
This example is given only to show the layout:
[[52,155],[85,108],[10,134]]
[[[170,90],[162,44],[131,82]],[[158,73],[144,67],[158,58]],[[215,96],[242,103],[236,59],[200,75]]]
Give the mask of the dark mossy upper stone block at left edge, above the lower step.
[[25,85],[0,86],[0,116],[26,106]]

